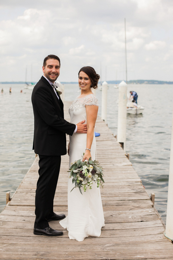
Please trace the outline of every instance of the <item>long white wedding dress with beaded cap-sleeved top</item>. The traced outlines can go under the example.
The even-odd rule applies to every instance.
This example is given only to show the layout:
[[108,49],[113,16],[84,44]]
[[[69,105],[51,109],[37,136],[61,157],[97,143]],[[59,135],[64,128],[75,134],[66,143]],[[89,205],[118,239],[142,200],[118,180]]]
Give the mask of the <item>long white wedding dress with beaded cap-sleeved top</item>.
[[[85,106],[98,106],[98,100],[94,94],[89,94],[83,98],[76,98],[69,108],[71,123],[77,124],[82,120],[86,123]],[[74,133],[70,136],[70,160],[71,163],[83,157],[86,147],[87,134]],[[96,141],[93,136],[91,146],[92,160],[95,160]],[[68,179],[68,216],[59,223],[63,228],[67,228],[70,239],[83,241],[85,237],[99,237],[102,226],[105,226],[103,207],[101,202],[100,188],[96,183],[92,184],[92,189],[87,188],[84,192],[81,188],[73,189],[72,178]],[[72,192],[71,192],[72,190]]]

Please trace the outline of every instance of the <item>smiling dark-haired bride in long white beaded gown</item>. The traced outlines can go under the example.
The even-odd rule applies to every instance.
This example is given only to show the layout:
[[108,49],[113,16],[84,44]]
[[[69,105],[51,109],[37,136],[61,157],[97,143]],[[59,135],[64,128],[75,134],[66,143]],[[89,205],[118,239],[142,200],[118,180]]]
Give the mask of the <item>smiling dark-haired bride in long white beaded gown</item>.
[[[70,136],[70,159],[71,163],[83,156],[83,161],[92,157],[95,160],[96,141],[94,126],[98,113],[98,100],[92,92],[96,89],[100,76],[92,67],[83,67],[78,74],[81,94],[69,108],[71,123],[85,120],[87,123],[87,134],[74,133]],[[84,155],[83,155],[84,154]],[[79,189],[73,189],[72,178],[68,179],[68,216],[59,223],[67,228],[70,239],[83,241],[85,237],[99,237],[104,224],[103,207],[101,202],[100,188],[96,183],[92,189],[80,193]]]

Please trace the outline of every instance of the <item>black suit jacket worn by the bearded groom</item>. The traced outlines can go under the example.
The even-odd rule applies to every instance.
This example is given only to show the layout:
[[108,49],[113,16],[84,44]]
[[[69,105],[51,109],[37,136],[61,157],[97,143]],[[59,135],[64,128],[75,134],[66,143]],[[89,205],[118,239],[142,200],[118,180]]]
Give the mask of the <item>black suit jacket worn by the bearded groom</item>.
[[64,155],[66,134],[72,135],[75,125],[64,119],[64,105],[52,86],[42,76],[32,91],[34,112],[33,149],[40,155]]

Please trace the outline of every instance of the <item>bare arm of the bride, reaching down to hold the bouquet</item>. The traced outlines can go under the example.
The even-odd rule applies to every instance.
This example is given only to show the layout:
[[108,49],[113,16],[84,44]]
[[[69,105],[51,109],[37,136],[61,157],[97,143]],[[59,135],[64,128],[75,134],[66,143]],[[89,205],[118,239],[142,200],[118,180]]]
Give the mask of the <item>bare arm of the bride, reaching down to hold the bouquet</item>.
[[[91,145],[93,142],[94,135],[94,127],[97,119],[98,106],[85,106],[86,107],[86,115],[87,115],[87,145],[86,148],[91,149]],[[85,150],[85,154],[83,157],[83,161],[85,159],[89,159],[91,157],[91,152],[89,150]]]

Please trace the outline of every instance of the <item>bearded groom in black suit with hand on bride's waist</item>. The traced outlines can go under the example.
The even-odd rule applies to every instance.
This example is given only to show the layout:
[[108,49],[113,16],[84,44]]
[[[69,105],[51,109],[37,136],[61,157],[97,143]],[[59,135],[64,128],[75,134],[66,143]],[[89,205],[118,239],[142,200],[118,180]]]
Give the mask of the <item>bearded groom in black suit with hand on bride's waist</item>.
[[64,214],[53,212],[61,155],[67,153],[66,134],[87,132],[86,124],[83,124],[85,121],[74,125],[64,119],[64,105],[54,86],[59,72],[60,59],[56,55],[48,55],[43,62],[43,76],[34,86],[31,97],[34,112],[33,149],[39,156],[34,235],[63,235],[62,231],[52,229],[48,223],[65,218]]

